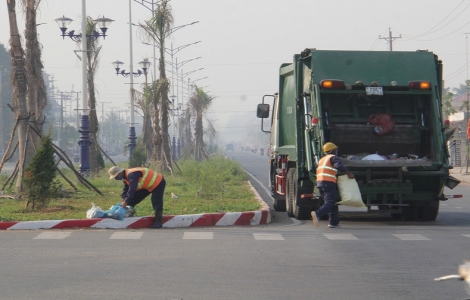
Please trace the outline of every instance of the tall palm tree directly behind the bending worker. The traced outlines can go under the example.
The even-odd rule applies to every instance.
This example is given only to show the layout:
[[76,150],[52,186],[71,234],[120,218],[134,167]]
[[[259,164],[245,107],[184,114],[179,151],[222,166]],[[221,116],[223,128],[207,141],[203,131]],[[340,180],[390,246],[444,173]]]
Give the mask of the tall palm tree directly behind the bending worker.
[[[163,167],[172,170],[172,157],[170,149],[170,135],[168,133],[168,115],[169,115],[169,81],[166,78],[165,71],[165,39],[171,34],[173,26],[173,12],[171,6],[168,4],[169,0],[163,0],[157,4],[154,14],[150,20],[144,21],[140,24],[144,38],[149,41],[155,41],[159,48],[159,63],[158,69],[160,77],[158,83],[155,85],[156,98],[154,101],[154,129],[155,138],[154,146],[157,151],[156,158],[158,159],[158,152],[163,150]],[[158,101],[158,103],[157,103]],[[161,136],[157,129],[160,129],[157,122],[159,122],[159,111],[161,112]],[[162,146],[160,148],[160,145]]]

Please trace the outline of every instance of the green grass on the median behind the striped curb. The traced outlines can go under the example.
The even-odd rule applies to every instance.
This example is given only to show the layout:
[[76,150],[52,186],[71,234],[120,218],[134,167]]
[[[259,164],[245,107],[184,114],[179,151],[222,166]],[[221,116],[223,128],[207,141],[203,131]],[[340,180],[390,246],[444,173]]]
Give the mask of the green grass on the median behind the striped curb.
[[[126,167],[127,162],[119,164]],[[0,199],[0,221],[37,221],[85,219],[86,212],[94,202],[103,210],[121,202],[122,181],[110,180],[107,170],[94,177],[87,178],[103,195],[88,190],[82,186],[68,169],[62,171],[73,181],[78,191],[60,176],[63,196],[53,198],[47,207],[40,210],[25,208],[26,200]],[[164,215],[185,215],[213,212],[253,211],[260,208],[260,203],[250,189],[248,179],[240,165],[224,157],[216,156],[207,162],[182,161],[178,162],[181,172],[176,171],[172,176],[163,172],[166,180],[163,198]],[[152,167],[151,167],[152,168]],[[155,168],[153,168],[155,169]],[[8,175],[0,174],[0,184],[3,186]],[[4,191],[8,194],[8,191]],[[11,191],[10,191],[11,192]],[[178,198],[172,198],[174,193]],[[153,215],[150,196],[135,207],[136,216]]]

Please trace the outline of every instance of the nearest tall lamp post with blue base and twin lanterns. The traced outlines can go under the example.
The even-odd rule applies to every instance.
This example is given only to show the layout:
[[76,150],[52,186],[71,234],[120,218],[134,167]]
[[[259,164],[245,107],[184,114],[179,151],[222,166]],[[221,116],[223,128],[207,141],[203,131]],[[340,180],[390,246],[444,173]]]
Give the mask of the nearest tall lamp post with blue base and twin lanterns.
[[[94,31],[93,34],[86,34],[86,1],[82,0],[82,33],[75,34],[75,31],[69,31],[67,33],[67,26],[73,21],[70,18],[63,16],[62,18],[57,18],[55,21],[59,24],[59,28],[62,31],[62,38],[65,39],[66,36],[70,37],[73,41],[80,41],[82,45],[82,116],[80,122],[80,139],[78,144],[80,145],[80,167],[79,172],[81,174],[89,174],[90,172],[90,117],[88,115],[88,90],[87,90],[87,39],[91,41],[97,39],[98,37],[106,38],[106,32],[108,30],[109,24],[114,20],[108,18],[96,19],[95,22],[101,29],[101,34]],[[83,38],[85,37],[85,38]]]

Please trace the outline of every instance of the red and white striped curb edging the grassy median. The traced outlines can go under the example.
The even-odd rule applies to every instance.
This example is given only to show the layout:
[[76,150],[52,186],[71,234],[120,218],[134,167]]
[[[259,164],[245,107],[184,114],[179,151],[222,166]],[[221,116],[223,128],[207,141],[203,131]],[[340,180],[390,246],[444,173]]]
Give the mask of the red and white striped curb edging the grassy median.
[[[249,182],[248,182],[249,183]],[[263,201],[261,196],[250,184],[256,199],[261,204],[258,211],[211,213],[195,215],[163,216],[163,228],[185,228],[198,226],[257,226],[268,224],[272,221],[271,209]],[[24,222],[0,222],[0,230],[33,230],[33,229],[65,229],[65,228],[89,228],[89,229],[138,229],[149,228],[154,222],[154,217],[131,217],[123,221],[115,219],[76,219],[76,220],[46,220]]]

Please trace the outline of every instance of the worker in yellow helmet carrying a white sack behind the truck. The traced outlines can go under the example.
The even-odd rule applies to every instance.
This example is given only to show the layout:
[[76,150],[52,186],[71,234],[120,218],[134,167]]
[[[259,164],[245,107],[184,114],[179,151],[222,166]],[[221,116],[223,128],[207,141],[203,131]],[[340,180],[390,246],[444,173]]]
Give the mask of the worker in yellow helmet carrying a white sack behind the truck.
[[354,178],[354,174],[349,172],[343,165],[338,155],[338,146],[328,142],[323,145],[323,152],[326,154],[318,162],[317,167],[317,187],[323,198],[324,204],[312,211],[313,224],[318,227],[319,220],[328,215],[329,228],[339,227],[339,212],[336,203],[340,201],[337,173],[346,173],[348,178]]

